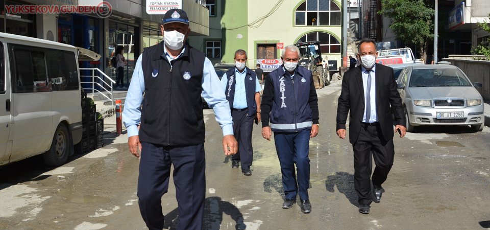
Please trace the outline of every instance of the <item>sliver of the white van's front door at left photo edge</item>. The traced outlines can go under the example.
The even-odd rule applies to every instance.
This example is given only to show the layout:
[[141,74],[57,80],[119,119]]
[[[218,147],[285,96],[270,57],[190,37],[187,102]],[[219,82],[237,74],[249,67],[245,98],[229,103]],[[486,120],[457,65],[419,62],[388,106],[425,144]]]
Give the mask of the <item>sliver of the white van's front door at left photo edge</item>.
[[[0,103],[3,108],[0,108],[0,165],[9,162],[10,148],[10,79],[5,71],[6,55],[3,42],[0,40]],[[9,148],[7,148],[9,146]]]

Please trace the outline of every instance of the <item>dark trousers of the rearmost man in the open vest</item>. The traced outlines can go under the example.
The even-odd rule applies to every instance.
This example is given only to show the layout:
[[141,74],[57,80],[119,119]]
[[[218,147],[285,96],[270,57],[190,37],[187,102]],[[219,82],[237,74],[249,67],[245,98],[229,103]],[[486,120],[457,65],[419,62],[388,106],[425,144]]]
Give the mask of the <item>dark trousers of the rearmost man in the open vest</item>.
[[231,157],[234,162],[240,162],[242,169],[249,169],[252,165],[254,150],[252,148],[252,129],[254,117],[247,116],[248,109],[231,110],[233,119],[233,133],[238,142],[238,152]]

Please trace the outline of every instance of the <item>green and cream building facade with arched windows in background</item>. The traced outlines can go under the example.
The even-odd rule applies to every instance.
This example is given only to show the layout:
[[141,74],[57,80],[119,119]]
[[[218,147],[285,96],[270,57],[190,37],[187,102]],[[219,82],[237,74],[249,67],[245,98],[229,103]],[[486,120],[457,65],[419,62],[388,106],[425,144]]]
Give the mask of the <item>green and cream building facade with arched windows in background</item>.
[[257,59],[280,59],[289,44],[320,41],[322,56],[331,68],[341,64],[340,1],[223,1],[206,0],[209,9],[209,36],[191,37],[213,63],[233,63],[238,49],[247,51],[247,66]]

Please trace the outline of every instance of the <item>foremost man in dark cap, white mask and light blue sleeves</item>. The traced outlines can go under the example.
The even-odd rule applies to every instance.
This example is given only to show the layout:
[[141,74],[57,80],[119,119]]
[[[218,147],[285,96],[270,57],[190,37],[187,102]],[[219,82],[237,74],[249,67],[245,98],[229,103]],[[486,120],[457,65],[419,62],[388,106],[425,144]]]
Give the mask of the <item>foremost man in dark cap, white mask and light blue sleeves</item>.
[[161,198],[174,165],[177,229],[202,229],[206,178],[201,92],[223,129],[225,155],[235,154],[237,143],[211,61],[185,43],[190,33],[186,13],[169,10],[162,23],[164,41],[145,48],[138,58],[122,112],[129,150],[140,157],[138,204],[146,226],[163,229]]

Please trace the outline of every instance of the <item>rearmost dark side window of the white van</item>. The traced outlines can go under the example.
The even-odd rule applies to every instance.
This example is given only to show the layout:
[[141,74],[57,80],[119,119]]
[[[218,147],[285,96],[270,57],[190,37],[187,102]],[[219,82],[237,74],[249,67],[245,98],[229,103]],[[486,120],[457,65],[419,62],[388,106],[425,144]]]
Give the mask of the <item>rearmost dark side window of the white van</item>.
[[53,91],[78,90],[79,80],[75,53],[47,50],[48,73]]

